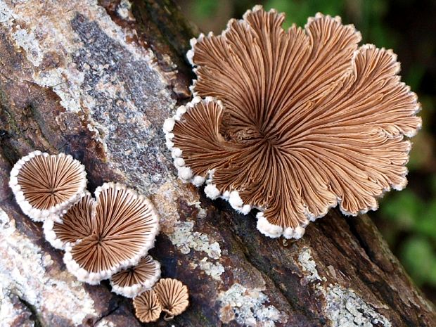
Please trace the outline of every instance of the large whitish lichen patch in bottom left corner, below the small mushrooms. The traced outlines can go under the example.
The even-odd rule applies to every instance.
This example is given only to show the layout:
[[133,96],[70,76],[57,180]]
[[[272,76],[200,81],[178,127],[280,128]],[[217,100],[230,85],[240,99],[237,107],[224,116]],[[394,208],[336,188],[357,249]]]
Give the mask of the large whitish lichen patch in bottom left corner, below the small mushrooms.
[[[28,302],[49,323],[53,316],[78,326],[85,316],[96,316],[94,301],[79,283],[66,272],[50,276],[47,265],[53,264],[37,245],[17,229],[15,221],[0,209],[0,321],[11,319],[14,295]],[[60,296],[62,295],[62,296]]]

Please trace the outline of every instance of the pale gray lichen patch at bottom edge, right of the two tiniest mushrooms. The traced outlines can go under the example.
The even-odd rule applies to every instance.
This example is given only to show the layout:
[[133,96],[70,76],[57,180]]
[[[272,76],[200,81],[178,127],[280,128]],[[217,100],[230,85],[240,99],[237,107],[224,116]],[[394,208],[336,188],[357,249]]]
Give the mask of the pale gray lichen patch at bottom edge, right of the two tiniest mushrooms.
[[236,320],[243,326],[274,327],[281,321],[281,313],[273,305],[267,305],[269,299],[259,288],[245,288],[239,283],[218,296],[221,302],[219,316],[222,322]]

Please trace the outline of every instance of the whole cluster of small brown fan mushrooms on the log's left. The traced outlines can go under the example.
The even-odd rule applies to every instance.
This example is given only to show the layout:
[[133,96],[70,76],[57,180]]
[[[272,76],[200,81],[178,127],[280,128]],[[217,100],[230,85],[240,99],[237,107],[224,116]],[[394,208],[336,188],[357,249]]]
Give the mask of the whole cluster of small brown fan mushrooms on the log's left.
[[37,150],[11,170],[9,186],[18,205],[44,236],[64,250],[63,261],[79,281],[95,285],[110,278],[113,292],[134,297],[142,322],[171,319],[188,307],[188,288],[160,279],[160,264],[148,255],[159,232],[152,203],[122,184],[86,191],[84,165],[71,155]]

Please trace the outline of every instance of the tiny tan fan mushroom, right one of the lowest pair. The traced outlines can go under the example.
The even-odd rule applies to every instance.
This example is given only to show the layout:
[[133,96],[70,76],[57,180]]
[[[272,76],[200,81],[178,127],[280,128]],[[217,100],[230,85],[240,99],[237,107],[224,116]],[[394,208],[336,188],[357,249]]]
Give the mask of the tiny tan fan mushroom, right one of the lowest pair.
[[158,295],[165,319],[172,319],[184,312],[189,305],[189,293],[186,285],[173,278],[162,278],[153,288]]

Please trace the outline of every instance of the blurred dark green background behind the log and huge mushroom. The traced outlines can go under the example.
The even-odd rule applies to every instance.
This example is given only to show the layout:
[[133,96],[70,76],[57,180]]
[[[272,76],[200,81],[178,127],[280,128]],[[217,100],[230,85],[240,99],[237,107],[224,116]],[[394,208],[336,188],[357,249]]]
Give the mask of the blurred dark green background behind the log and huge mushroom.
[[219,34],[229,18],[262,4],[286,13],[285,27],[303,26],[316,12],[340,15],[361,31],[362,43],[394,49],[402,80],[418,94],[423,129],[415,136],[409,186],[380,199],[369,214],[413,280],[436,302],[436,1],[411,0],[178,0],[202,32]]

